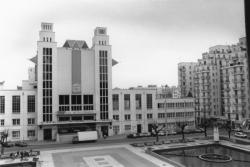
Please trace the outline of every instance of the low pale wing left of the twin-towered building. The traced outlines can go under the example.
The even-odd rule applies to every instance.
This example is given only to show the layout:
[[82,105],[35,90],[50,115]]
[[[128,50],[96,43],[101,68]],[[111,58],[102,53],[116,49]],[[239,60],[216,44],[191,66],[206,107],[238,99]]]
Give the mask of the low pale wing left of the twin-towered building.
[[11,140],[37,140],[36,92],[0,91],[0,133],[8,131]]

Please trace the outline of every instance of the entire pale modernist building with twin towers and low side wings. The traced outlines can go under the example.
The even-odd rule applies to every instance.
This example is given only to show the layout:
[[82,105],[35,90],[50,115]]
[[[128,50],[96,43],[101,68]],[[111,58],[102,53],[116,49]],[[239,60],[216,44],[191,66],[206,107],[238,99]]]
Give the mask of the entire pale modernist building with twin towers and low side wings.
[[175,98],[156,87],[112,90],[111,53],[106,28],[94,30],[91,47],[81,40],[58,47],[53,24],[42,23],[29,79],[18,90],[0,90],[0,132],[9,140],[66,141],[78,131],[151,131],[154,122],[194,126],[193,98],[178,98],[177,88]]

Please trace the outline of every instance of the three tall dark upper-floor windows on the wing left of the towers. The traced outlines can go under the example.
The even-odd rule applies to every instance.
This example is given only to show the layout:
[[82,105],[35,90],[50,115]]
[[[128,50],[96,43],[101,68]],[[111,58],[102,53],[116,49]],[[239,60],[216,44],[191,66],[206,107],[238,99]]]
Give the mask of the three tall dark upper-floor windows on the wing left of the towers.
[[[36,100],[34,95],[27,96],[27,108],[28,112],[35,112]],[[12,112],[20,113],[21,110],[21,97],[20,96],[12,96]],[[5,113],[5,96],[0,96],[0,113]]]

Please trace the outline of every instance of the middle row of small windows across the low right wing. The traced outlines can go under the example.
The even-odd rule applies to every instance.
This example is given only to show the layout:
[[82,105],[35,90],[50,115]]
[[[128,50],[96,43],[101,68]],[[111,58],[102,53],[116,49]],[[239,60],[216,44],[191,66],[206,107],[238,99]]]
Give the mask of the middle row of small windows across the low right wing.
[[[174,118],[174,117],[193,117],[194,112],[171,112],[171,113],[158,113],[158,118],[162,119],[165,118],[167,114],[167,118]],[[113,115],[113,119],[119,121],[119,115]],[[141,120],[142,119],[142,114],[136,114],[136,120]],[[153,114],[148,113],[147,114],[147,119],[153,119]],[[131,120],[131,115],[130,114],[125,114],[124,115],[124,120],[130,121]]]

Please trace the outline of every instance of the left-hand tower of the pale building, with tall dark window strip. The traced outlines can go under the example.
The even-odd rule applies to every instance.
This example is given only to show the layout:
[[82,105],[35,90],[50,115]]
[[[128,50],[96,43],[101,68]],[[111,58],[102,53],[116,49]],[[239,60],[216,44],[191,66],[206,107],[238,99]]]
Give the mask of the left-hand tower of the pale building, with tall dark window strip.
[[[42,23],[37,41],[37,111],[38,139],[51,139],[56,121],[56,56],[57,43],[52,23]],[[54,130],[55,131],[55,130]]]

